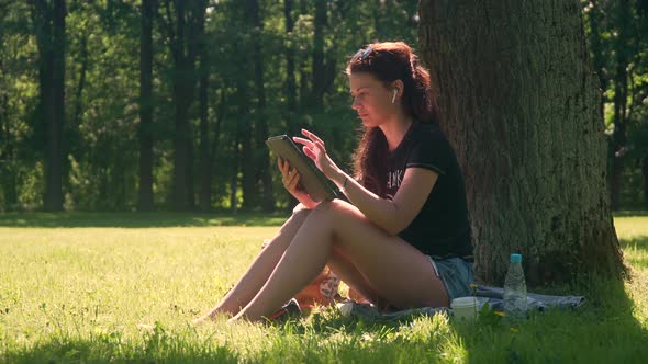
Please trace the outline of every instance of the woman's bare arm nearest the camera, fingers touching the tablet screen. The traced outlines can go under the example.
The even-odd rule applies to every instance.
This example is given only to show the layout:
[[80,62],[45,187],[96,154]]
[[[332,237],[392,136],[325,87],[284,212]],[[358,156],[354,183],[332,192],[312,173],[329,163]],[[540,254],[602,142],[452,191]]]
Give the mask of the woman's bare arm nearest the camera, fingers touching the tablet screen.
[[308,130],[302,130],[302,134],[310,140],[294,138],[294,141],[304,145],[304,153],[344,190],[345,195],[371,223],[389,234],[402,231],[414,220],[436,183],[436,172],[424,168],[407,168],[393,200],[382,198],[342,171],[328,157],[324,143],[316,135]]

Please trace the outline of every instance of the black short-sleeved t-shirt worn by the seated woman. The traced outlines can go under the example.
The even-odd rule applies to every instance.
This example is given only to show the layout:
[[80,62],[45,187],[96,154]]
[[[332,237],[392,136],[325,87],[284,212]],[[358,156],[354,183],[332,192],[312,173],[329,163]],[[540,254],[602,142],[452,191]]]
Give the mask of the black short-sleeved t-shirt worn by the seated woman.
[[425,168],[438,174],[427,201],[399,237],[436,259],[472,261],[466,187],[453,147],[438,124],[414,122],[387,160],[387,193],[396,194],[405,169]]

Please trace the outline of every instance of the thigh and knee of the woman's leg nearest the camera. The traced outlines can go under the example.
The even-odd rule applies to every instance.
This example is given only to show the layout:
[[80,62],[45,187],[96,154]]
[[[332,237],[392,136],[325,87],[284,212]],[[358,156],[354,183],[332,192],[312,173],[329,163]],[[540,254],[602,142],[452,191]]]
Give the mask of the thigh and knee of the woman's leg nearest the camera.
[[331,224],[335,249],[391,305],[448,306],[446,289],[427,255],[373,225],[357,207],[336,200],[321,204],[309,219]]

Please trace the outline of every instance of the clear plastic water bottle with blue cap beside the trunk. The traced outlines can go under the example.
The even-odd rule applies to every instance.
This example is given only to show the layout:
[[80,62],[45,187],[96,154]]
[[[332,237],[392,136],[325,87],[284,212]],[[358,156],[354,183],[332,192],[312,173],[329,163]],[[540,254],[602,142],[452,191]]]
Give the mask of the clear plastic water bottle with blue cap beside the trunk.
[[522,254],[511,254],[504,281],[504,312],[511,319],[526,318],[526,282],[522,270]]

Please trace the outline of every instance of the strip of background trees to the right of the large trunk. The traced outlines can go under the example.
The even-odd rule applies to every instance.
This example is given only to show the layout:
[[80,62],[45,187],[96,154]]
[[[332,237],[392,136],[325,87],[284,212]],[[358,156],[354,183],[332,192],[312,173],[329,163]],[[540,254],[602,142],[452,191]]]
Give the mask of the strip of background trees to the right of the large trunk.
[[[612,206],[648,208],[648,1],[583,1],[603,90]],[[637,198],[644,190],[644,198]]]

